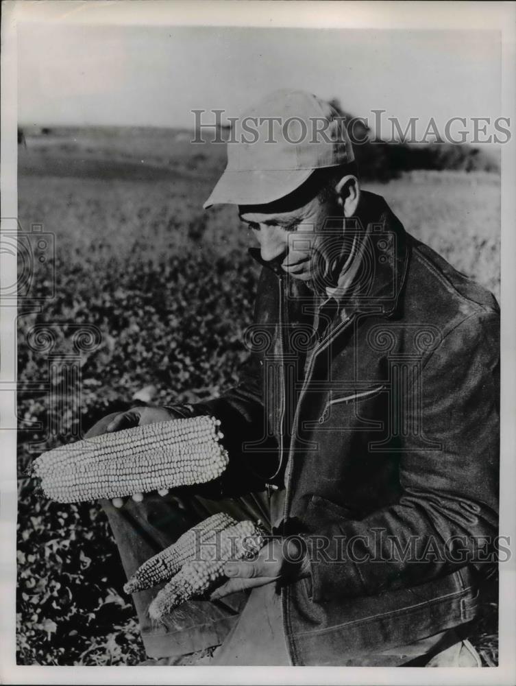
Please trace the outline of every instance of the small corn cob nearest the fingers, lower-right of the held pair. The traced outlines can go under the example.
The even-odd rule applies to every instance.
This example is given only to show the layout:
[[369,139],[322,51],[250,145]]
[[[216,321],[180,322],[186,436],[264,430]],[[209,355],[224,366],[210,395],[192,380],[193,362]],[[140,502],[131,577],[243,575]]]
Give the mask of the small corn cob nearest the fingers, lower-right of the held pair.
[[199,559],[188,560],[149,606],[149,617],[160,621],[180,604],[208,591],[223,576],[228,560],[241,560],[264,544],[263,532],[252,521],[241,521],[219,532],[217,545],[199,551]]

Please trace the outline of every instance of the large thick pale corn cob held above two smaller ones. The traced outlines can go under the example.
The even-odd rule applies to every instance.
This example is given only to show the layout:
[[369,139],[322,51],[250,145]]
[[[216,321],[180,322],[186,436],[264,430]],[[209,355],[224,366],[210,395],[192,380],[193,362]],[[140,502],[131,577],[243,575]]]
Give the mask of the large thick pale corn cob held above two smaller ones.
[[43,453],[43,493],[62,503],[204,484],[228,466],[220,422],[200,416],[114,431]]

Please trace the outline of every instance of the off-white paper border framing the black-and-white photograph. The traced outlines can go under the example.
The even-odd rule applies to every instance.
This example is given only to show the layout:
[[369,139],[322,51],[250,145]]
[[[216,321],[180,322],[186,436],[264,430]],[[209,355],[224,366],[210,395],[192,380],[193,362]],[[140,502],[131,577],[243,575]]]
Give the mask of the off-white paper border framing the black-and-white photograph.
[[[269,2],[250,0],[4,0],[1,25],[1,229],[17,214],[16,25],[23,21],[306,28],[497,30],[502,36],[502,107],[516,119],[514,2]],[[199,20],[201,18],[201,21]],[[500,533],[516,539],[516,138],[502,147],[502,466]],[[6,219],[11,217],[11,219]],[[0,283],[16,281],[16,257],[0,250]],[[516,683],[515,556],[500,567],[498,667],[38,667],[15,662],[16,588],[16,307],[0,307],[0,683],[12,684],[454,684]],[[511,546],[512,547],[512,546]]]

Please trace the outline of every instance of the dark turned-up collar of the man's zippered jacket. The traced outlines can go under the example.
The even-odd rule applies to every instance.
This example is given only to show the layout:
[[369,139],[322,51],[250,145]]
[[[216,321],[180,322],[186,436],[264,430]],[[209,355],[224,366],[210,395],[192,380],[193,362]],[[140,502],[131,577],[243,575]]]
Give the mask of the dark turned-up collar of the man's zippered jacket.
[[[400,309],[409,257],[402,223],[384,198],[369,191],[362,191],[356,216],[345,222],[349,235],[356,233],[361,266],[352,287],[339,296],[339,307],[346,316],[358,311],[395,316]],[[280,265],[263,260],[259,248],[249,248],[249,254],[278,276],[292,278]]]

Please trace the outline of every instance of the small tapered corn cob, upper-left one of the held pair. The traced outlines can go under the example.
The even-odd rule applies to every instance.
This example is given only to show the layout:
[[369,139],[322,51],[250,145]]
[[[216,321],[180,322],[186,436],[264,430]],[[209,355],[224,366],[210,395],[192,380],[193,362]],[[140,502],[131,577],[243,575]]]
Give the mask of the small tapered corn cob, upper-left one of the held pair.
[[169,581],[188,560],[195,558],[199,550],[206,545],[212,545],[217,532],[236,523],[236,519],[225,512],[218,512],[199,522],[175,543],[138,567],[123,587],[125,593],[136,593],[163,581]]

